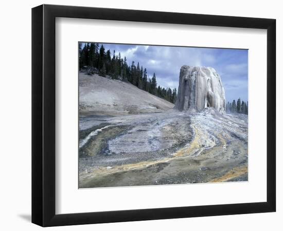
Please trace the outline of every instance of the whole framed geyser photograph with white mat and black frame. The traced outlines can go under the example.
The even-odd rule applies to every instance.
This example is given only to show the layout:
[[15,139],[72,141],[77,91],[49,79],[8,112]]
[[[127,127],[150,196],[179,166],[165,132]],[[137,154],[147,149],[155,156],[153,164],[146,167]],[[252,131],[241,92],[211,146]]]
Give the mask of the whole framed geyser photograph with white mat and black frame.
[[32,222],[276,208],[276,21],[32,9]]

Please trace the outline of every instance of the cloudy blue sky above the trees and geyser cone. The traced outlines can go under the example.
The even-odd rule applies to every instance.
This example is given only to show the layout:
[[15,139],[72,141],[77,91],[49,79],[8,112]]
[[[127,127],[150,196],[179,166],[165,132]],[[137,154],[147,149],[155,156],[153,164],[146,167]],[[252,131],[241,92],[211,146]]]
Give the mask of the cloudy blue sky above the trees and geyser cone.
[[[101,44],[100,44],[101,45]],[[247,50],[103,44],[105,50],[113,50],[127,57],[128,65],[139,62],[152,77],[155,72],[157,84],[176,88],[179,85],[180,68],[188,66],[213,67],[220,74],[224,85],[226,102],[238,99],[247,101]]]

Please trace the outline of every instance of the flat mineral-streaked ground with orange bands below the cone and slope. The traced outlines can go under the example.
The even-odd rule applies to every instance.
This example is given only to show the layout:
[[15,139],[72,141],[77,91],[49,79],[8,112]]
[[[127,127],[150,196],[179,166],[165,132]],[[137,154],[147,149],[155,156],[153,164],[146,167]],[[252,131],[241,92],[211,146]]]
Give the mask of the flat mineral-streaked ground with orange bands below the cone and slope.
[[80,113],[79,187],[247,181],[247,116]]

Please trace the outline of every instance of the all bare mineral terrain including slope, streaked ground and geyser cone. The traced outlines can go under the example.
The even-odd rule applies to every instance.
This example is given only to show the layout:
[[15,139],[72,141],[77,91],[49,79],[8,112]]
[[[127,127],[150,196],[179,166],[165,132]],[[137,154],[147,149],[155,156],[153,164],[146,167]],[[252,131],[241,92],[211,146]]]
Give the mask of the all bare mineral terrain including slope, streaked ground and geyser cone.
[[225,112],[213,68],[183,66],[179,80],[173,105],[80,73],[80,188],[247,181],[247,115]]

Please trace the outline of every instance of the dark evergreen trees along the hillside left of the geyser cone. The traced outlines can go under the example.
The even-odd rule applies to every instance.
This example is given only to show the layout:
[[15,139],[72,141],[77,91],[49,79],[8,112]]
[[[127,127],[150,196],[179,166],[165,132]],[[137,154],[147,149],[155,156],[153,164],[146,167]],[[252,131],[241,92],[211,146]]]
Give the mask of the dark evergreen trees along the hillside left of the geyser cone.
[[111,55],[110,50],[105,51],[103,44],[98,43],[79,43],[79,70],[85,70],[87,74],[98,73],[101,76],[109,75],[114,80],[129,82],[139,89],[147,91],[171,103],[175,103],[177,98],[176,88],[164,88],[157,86],[156,76],[153,73],[149,77],[147,69],[127,63],[127,57],[121,57],[120,52],[116,54],[115,50]]

